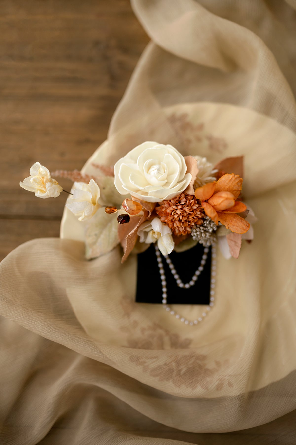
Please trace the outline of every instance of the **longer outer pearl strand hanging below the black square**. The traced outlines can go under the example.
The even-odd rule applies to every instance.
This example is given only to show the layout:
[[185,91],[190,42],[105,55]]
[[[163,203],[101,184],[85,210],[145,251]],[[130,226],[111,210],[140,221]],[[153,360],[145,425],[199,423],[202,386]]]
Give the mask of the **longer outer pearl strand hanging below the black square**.
[[154,244],[155,253],[158,262],[159,273],[162,279],[162,306],[166,309],[167,312],[170,312],[171,315],[175,316],[177,320],[180,320],[184,324],[188,324],[189,326],[194,326],[198,323],[201,323],[209,312],[215,302],[215,285],[216,285],[216,243],[212,244],[212,265],[211,265],[211,284],[210,284],[210,303],[209,306],[206,307],[207,312],[203,312],[201,316],[197,320],[186,320],[185,317],[182,317],[180,314],[176,313],[168,304],[167,304],[167,287],[166,287],[166,275],[163,268],[162,258],[160,251],[158,249],[157,244]]

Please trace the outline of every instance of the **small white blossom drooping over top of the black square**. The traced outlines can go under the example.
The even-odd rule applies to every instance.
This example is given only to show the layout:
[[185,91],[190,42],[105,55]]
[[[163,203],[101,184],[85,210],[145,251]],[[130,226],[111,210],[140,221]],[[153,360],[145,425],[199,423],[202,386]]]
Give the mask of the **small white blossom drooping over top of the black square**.
[[140,237],[140,243],[151,244],[157,242],[162,255],[169,255],[175,247],[170,227],[162,223],[158,217],[142,223],[137,233]]

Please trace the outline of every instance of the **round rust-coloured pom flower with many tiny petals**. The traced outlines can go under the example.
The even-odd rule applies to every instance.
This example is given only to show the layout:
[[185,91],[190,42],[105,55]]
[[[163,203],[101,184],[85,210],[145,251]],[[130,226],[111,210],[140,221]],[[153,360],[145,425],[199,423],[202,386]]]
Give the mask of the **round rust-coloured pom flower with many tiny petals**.
[[205,217],[203,209],[193,195],[181,193],[155,208],[160,220],[166,223],[174,235],[188,235],[191,228],[201,224]]

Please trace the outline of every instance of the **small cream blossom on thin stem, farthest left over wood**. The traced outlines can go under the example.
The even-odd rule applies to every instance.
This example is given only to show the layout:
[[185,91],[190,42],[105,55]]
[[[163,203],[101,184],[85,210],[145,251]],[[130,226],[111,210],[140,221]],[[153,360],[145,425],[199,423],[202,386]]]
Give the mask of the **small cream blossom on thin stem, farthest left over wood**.
[[56,198],[63,191],[59,183],[51,179],[49,170],[40,162],[32,165],[30,175],[24,179],[24,182],[20,182],[20,186],[29,192],[34,192],[38,198]]

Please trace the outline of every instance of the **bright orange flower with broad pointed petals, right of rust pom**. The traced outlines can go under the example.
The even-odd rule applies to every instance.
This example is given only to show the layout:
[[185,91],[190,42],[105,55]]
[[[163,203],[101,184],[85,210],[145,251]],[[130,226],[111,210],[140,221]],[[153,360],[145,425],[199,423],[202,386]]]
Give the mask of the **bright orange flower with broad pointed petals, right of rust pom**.
[[194,194],[200,199],[205,214],[216,224],[218,221],[235,233],[245,233],[250,224],[237,213],[244,212],[245,204],[236,201],[241,193],[243,180],[238,174],[226,173],[217,182],[198,187]]

